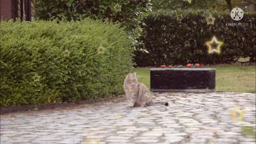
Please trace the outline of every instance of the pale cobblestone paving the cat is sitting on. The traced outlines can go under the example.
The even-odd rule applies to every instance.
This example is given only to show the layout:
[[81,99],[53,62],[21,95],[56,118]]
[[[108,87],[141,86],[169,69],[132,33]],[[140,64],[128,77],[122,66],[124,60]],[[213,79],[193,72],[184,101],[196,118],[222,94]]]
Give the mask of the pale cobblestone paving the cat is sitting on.
[[[253,93],[161,93],[169,106],[126,107],[126,102],[1,115],[7,143],[255,143]],[[234,121],[230,111],[245,111]],[[236,117],[239,114],[236,113]]]

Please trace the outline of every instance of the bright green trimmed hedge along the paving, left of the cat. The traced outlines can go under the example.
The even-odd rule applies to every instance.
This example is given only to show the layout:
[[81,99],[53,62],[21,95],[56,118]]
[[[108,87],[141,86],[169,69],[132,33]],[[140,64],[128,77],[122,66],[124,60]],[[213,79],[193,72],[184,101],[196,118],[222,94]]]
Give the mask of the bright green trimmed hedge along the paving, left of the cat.
[[118,25],[1,22],[1,106],[79,101],[122,93],[133,46]]

